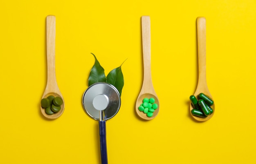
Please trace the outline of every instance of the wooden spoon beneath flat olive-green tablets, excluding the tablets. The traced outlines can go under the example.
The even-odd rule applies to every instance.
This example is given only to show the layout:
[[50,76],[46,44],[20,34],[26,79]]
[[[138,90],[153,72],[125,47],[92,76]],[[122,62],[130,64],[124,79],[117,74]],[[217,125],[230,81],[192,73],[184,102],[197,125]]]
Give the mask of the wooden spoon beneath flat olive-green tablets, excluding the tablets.
[[[65,109],[64,98],[61,91],[58,88],[56,73],[55,73],[55,28],[56,18],[55,16],[47,16],[46,18],[46,49],[47,49],[47,84],[45,87],[45,92],[43,93],[43,98],[47,98],[49,95],[54,97],[58,96],[63,100],[61,105],[61,110],[53,115],[47,115],[45,109],[41,108],[43,115],[49,119],[56,119],[62,115]],[[43,99],[42,98],[42,99]]]

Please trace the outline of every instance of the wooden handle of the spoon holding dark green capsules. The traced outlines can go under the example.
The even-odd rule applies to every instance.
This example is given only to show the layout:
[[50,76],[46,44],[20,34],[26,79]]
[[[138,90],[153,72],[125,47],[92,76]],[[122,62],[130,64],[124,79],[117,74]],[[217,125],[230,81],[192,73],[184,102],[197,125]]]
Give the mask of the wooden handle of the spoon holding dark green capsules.
[[198,86],[207,85],[206,82],[206,20],[197,18],[198,39]]

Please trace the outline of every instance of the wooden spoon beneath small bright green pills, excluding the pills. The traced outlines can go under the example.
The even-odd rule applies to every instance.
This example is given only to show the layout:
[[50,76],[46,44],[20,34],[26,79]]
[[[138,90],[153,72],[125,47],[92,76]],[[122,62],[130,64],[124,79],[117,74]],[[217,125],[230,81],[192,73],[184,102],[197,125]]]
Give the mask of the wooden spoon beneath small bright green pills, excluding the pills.
[[[159,112],[159,100],[155,93],[152,78],[151,78],[151,67],[150,67],[150,17],[141,17],[142,26],[142,47],[143,47],[143,64],[144,64],[144,78],[141,91],[136,102],[136,112],[144,120],[152,120]],[[144,112],[139,111],[138,107],[142,104],[144,98],[154,98],[158,108],[153,112],[152,117],[148,117]]]

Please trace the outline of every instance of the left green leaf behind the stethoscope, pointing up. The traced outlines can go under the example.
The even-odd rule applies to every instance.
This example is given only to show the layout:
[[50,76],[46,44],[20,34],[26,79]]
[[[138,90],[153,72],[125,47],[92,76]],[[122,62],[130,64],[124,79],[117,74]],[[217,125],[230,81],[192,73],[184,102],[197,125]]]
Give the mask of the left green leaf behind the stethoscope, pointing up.
[[90,86],[97,82],[107,82],[103,67],[101,66],[101,64],[99,64],[99,61],[97,60],[96,56],[93,53],[91,54],[95,58],[95,63],[89,75],[88,85]]

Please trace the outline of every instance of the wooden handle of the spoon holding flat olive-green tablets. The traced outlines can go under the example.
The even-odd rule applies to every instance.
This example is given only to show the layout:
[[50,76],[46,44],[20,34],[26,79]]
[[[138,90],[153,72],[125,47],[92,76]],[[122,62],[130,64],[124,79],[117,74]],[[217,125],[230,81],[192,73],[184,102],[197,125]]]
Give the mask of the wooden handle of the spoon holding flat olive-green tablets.
[[47,49],[47,87],[49,90],[55,90],[58,86],[55,72],[55,16],[46,18],[46,49]]

